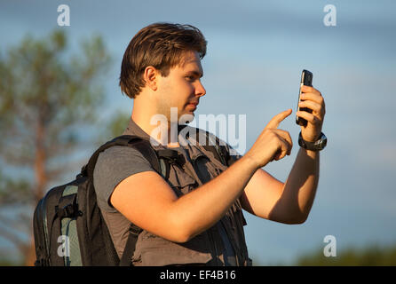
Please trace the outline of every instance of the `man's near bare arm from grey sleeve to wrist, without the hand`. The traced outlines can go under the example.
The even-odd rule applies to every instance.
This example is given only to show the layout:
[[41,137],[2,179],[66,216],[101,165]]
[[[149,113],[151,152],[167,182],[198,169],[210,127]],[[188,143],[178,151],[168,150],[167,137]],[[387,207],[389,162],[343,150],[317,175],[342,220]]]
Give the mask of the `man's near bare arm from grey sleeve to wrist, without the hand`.
[[218,177],[178,198],[153,171],[127,177],[110,201],[139,227],[170,241],[188,241],[214,225],[240,196],[257,164],[249,156]]

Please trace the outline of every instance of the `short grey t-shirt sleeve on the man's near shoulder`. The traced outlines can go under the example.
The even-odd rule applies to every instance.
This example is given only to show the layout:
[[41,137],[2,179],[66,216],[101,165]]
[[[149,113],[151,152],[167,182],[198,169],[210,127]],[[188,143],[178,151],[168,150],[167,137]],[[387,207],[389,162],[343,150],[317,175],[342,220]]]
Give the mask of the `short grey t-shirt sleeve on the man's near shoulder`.
[[93,171],[93,185],[99,208],[107,212],[117,210],[110,204],[115,186],[125,178],[143,171],[155,171],[138,150],[126,146],[113,146],[99,154]]

